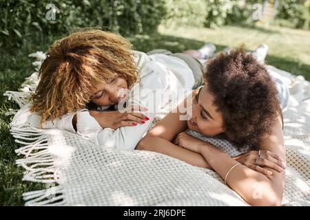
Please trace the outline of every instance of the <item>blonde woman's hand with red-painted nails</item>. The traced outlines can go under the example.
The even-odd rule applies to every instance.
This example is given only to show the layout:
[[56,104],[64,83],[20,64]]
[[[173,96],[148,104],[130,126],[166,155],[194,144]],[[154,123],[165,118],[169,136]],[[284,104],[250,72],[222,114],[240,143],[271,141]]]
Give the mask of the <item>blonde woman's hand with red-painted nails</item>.
[[147,109],[132,105],[127,107],[124,113],[119,111],[90,111],[90,115],[92,115],[103,128],[115,130],[121,126],[145,124],[145,120],[149,120],[149,118],[140,111],[147,111]]

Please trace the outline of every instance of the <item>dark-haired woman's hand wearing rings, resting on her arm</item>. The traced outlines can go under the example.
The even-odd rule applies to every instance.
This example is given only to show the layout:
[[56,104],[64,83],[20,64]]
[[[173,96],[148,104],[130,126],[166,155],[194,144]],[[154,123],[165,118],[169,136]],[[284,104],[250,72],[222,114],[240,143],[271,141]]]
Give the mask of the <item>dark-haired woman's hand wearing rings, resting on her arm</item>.
[[240,162],[240,164],[243,164],[248,168],[256,170],[257,172],[262,173],[264,175],[272,175],[272,172],[270,170],[262,168],[261,166],[271,168],[278,172],[282,172],[286,168],[284,160],[281,157],[279,157],[276,153],[273,153],[271,151],[262,151],[262,150],[249,151],[247,153],[243,153],[242,155],[234,157],[234,159]]

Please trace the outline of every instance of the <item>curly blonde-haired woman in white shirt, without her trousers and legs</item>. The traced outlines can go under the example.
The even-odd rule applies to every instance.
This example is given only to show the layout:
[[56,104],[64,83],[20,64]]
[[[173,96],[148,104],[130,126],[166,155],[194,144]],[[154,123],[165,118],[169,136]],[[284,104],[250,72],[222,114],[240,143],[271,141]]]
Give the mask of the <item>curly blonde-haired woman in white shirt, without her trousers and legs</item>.
[[[165,107],[172,96],[194,87],[187,62],[200,63],[190,56],[183,61],[185,54],[181,58],[176,54],[148,56],[131,47],[118,34],[94,29],[55,41],[39,69],[32,102],[13,120],[43,129],[65,129],[102,146],[133,150],[152,124],[154,113],[168,113]],[[169,91],[169,98],[156,100],[156,106],[149,106],[152,100],[145,94],[133,94],[148,90],[152,96],[158,89]],[[130,103],[126,112],[116,111],[124,101]]]

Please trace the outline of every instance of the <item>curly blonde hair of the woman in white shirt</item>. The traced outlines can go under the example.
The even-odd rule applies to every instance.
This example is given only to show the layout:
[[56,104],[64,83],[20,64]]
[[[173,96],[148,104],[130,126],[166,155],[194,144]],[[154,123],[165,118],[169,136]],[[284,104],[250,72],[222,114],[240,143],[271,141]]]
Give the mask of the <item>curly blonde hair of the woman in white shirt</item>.
[[122,77],[130,88],[138,77],[132,45],[118,34],[79,30],[55,41],[39,69],[39,85],[30,112],[41,115],[40,127],[90,102],[94,83]]

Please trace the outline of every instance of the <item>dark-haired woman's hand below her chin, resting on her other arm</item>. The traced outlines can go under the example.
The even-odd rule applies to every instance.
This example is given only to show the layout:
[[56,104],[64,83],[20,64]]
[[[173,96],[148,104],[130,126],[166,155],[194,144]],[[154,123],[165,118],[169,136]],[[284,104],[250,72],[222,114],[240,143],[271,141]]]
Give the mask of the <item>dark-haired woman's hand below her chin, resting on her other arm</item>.
[[174,144],[183,147],[189,151],[200,153],[200,148],[205,144],[202,140],[197,139],[185,132],[178,133],[174,139]]

